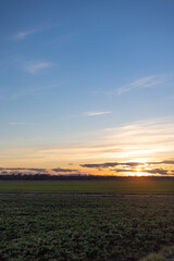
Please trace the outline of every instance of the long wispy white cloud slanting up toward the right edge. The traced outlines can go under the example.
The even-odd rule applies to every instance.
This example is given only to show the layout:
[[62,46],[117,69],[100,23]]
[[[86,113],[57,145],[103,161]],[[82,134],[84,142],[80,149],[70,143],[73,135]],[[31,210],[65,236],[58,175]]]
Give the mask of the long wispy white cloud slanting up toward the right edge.
[[167,78],[166,75],[151,75],[148,77],[139,78],[137,80],[134,80],[130,84],[120,87],[119,89],[116,89],[116,94],[122,95],[133,89],[150,88],[150,87],[159,86],[163,84],[166,78]]

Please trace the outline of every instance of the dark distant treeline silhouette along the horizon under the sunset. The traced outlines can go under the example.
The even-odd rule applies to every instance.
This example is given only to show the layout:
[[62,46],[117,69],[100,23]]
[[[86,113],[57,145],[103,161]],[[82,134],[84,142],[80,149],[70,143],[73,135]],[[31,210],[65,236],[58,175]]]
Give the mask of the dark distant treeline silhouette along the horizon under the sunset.
[[50,175],[50,174],[0,174],[0,181],[173,181],[174,176],[100,176],[100,175]]

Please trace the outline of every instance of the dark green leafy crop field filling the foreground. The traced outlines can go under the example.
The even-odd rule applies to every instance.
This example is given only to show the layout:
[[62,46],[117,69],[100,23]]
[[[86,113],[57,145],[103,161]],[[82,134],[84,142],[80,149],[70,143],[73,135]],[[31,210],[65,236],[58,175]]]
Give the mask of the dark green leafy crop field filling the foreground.
[[1,196],[1,261],[136,261],[174,243],[173,196]]

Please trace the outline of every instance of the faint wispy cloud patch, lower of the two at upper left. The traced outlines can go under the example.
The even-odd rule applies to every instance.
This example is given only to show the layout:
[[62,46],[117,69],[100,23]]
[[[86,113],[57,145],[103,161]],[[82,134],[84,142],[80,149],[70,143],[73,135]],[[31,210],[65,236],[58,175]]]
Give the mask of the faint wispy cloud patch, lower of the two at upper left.
[[24,66],[24,71],[29,74],[36,74],[45,69],[52,67],[53,63],[51,62],[28,62]]

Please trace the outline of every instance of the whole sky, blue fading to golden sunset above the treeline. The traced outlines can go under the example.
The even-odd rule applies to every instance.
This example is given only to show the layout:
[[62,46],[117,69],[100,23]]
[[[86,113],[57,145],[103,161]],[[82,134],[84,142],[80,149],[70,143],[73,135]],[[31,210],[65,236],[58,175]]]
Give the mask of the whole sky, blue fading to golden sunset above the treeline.
[[1,0],[0,170],[173,175],[173,11]]

